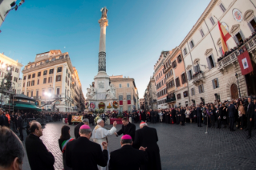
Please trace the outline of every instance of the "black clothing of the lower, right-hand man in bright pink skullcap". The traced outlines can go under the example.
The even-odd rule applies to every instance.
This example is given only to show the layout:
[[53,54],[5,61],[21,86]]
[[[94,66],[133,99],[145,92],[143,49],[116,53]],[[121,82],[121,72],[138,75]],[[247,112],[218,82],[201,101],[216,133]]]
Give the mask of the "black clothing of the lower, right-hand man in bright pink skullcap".
[[141,164],[148,161],[147,152],[124,145],[122,148],[111,152],[109,170],[138,170]]

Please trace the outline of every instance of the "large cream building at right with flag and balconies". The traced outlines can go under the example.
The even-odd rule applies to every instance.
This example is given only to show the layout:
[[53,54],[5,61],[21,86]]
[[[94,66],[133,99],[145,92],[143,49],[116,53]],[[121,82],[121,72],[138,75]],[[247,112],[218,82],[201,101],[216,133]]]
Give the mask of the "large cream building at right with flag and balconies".
[[[188,78],[189,104],[209,103],[215,99],[238,99],[241,96],[255,95],[255,47],[256,39],[250,38],[256,27],[255,1],[212,0],[179,47],[185,63]],[[215,18],[216,17],[216,18]],[[225,59],[221,57],[221,38],[217,19],[231,34],[227,47],[232,50]],[[246,38],[250,38],[246,42]],[[242,75],[238,63],[239,50],[236,43],[250,54],[254,73]],[[238,47],[240,50],[242,47]],[[176,71],[175,71],[176,73]],[[235,74],[238,74],[236,79]],[[239,86],[239,87],[238,87]]]

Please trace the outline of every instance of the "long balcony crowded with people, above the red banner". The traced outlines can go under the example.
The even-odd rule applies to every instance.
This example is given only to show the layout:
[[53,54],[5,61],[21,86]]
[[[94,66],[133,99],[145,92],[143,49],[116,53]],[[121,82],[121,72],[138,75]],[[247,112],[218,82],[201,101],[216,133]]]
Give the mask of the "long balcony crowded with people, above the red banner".
[[256,36],[254,36],[254,38],[251,38],[248,42],[245,42],[241,47],[233,51],[230,55],[227,55],[224,59],[221,59],[221,61],[218,61],[217,70],[226,71],[226,67],[230,64],[233,64],[235,66],[235,63],[238,62],[238,55],[241,54],[240,51],[243,52],[244,47],[246,47],[246,51],[248,52],[253,51],[256,47]]

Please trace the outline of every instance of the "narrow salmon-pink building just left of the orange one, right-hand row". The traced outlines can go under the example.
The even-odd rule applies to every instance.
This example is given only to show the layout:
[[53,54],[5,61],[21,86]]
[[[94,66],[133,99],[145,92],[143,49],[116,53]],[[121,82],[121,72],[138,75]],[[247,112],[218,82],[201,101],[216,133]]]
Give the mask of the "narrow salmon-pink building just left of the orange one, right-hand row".
[[165,109],[169,108],[168,103],[166,103],[167,89],[166,89],[166,79],[164,72],[164,63],[167,55],[172,53],[172,51],[162,51],[159,59],[154,65],[154,78],[156,81],[156,96],[157,96],[157,108]]

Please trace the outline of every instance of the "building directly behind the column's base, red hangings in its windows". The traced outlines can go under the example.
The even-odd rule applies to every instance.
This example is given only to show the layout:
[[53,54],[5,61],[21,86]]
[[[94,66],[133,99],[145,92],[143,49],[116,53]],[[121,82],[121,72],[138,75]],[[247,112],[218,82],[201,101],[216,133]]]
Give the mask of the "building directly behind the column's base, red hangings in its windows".
[[119,102],[120,111],[133,111],[140,109],[139,91],[136,88],[135,80],[123,75],[112,75],[110,82],[116,87],[116,98]]

